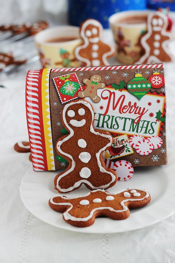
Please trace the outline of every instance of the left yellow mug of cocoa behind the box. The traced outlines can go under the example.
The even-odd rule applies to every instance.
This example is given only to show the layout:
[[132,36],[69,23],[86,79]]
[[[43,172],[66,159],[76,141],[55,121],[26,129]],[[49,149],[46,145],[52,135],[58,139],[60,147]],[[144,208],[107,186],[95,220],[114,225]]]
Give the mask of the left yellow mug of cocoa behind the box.
[[79,28],[58,26],[47,28],[34,38],[42,68],[79,67],[74,49],[82,43]]

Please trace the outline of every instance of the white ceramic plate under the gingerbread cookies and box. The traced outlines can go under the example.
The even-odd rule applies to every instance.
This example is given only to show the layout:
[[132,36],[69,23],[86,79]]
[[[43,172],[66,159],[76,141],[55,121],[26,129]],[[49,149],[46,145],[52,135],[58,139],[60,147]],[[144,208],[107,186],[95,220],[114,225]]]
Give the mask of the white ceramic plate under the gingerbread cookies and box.
[[[37,218],[62,229],[84,233],[116,233],[139,229],[159,222],[175,213],[175,152],[168,149],[168,164],[134,168],[129,181],[118,181],[108,191],[126,188],[146,189],[151,195],[148,205],[131,210],[129,218],[112,220],[96,218],[89,227],[75,227],[66,223],[62,213],[48,205],[49,199],[57,195],[54,190],[54,177],[58,171],[33,171],[30,168],[22,179],[20,195],[25,207]],[[84,195],[89,190],[81,186],[76,191],[66,193],[68,197]]]

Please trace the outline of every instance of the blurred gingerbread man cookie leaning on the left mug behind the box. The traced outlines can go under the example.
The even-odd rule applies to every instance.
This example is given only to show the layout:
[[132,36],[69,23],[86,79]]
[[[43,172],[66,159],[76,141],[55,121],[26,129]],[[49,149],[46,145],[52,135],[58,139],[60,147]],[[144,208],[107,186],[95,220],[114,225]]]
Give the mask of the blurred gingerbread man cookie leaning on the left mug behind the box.
[[83,44],[75,49],[75,57],[90,66],[109,65],[107,58],[112,57],[116,50],[103,40],[103,27],[95,19],[87,19],[80,27]]

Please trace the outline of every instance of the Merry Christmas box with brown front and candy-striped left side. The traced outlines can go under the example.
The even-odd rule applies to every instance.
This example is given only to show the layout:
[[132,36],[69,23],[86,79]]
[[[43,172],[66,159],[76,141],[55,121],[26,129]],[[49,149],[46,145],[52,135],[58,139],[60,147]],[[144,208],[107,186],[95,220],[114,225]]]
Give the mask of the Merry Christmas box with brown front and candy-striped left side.
[[67,133],[61,111],[80,98],[94,108],[94,127],[114,138],[103,154],[106,163],[167,164],[164,66],[120,65],[29,70],[26,116],[34,170],[68,166],[56,151],[57,140]]

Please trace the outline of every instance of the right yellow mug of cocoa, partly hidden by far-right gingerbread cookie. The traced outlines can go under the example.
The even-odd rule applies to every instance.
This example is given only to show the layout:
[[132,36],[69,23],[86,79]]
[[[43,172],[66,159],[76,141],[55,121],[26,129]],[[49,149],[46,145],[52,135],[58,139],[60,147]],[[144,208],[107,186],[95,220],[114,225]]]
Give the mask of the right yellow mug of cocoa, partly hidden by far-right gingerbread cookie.
[[119,62],[132,65],[143,55],[140,39],[147,32],[147,17],[150,12],[124,11],[109,18]]

